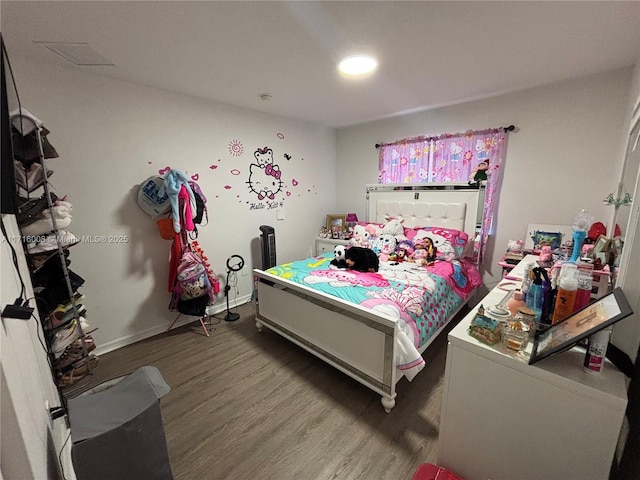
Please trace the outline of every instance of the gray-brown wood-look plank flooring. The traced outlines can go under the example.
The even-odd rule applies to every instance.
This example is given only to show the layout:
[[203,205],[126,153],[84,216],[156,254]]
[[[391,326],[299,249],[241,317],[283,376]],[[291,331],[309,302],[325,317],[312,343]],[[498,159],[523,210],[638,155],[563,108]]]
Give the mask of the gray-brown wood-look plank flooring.
[[385,413],[380,395],[279,335],[240,319],[196,320],[100,357],[68,397],[138,367],[156,366],[171,391],[160,403],[177,480],[410,480],[437,463],[446,333],[424,353],[426,367],[397,386]]

